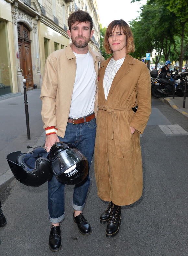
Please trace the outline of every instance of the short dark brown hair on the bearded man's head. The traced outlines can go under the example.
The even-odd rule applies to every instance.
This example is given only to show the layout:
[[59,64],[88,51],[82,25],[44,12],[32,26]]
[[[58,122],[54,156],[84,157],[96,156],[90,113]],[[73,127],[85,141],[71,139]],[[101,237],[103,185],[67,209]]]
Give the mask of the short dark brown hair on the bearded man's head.
[[71,30],[71,26],[76,22],[89,22],[91,30],[93,28],[93,20],[88,12],[77,10],[68,17],[68,29]]

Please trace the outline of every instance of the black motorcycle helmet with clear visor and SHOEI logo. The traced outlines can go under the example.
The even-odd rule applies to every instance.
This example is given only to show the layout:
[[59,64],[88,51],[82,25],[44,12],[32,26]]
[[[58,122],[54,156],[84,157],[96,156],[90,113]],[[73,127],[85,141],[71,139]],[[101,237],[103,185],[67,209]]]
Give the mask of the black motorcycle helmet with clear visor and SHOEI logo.
[[88,160],[70,143],[56,142],[50,149],[51,169],[55,177],[68,185],[83,181],[88,174]]

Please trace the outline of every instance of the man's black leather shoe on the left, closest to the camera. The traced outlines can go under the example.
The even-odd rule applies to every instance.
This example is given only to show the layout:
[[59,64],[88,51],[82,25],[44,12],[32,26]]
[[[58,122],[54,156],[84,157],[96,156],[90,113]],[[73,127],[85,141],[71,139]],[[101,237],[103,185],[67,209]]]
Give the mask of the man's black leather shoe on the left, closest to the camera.
[[55,227],[52,225],[50,230],[50,236],[48,240],[48,244],[51,251],[58,251],[61,249],[62,242],[61,242],[61,228],[60,225]]

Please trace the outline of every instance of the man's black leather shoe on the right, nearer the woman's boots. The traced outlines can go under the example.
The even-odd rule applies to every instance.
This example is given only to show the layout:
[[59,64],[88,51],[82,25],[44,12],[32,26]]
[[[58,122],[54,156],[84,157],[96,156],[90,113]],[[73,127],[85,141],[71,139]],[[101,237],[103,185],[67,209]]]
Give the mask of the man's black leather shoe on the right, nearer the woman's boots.
[[73,212],[73,220],[77,224],[78,229],[82,235],[87,236],[91,234],[91,226],[84,218],[84,215],[82,213],[75,217],[75,214]]

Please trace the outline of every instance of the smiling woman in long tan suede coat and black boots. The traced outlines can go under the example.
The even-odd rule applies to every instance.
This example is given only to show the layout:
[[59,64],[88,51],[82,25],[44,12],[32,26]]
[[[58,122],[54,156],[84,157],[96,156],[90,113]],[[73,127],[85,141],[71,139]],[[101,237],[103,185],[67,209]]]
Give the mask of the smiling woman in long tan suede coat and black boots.
[[108,222],[106,236],[113,237],[121,206],[142,195],[140,134],[151,113],[151,80],[146,64],[128,54],[135,46],[125,21],[109,24],[104,47],[113,55],[99,70],[95,177],[98,196],[110,202],[100,222]]

